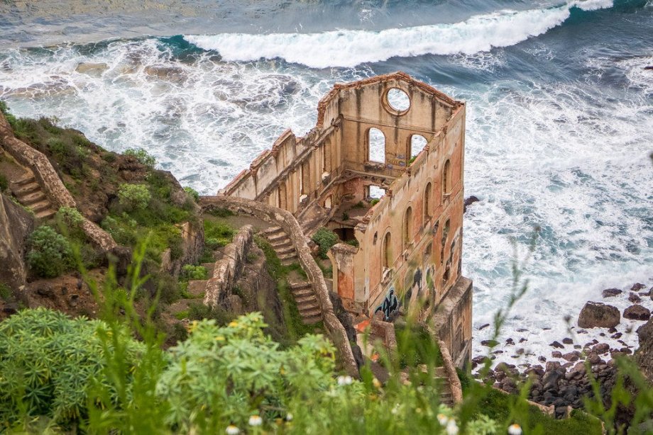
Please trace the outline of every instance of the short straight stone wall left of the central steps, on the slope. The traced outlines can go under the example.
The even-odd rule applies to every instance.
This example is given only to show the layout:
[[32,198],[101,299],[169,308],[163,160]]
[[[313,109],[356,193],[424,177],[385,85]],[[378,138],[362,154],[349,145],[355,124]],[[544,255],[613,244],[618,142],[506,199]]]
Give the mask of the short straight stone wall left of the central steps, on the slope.
[[213,276],[207,282],[204,305],[217,307],[231,293],[246,264],[246,255],[252,246],[253,229],[243,225],[234,236],[234,241],[224,247],[224,258],[216,261]]

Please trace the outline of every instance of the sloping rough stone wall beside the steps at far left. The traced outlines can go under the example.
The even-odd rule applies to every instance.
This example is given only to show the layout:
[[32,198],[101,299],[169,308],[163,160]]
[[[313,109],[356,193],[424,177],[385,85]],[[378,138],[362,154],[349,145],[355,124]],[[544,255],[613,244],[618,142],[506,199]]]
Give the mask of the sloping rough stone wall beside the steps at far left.
[[[18,163],[32,170],[39,186],[43,188],[43,192],[55,207],[77,208],[75,199],[72,198],[66,186],[63,185],[59,174],[55,171],[48,157],[45,157],[45,154],[38,151],[38,149],[34,149],[25,142],[16,139],[11,125],[9,125],[2,113],[0,113],[0,145]],[[84,222],[82,222],[82,230],[103,252],[109,252],[118,246],[108,232],[102,230],[87,218],[84,218]]]

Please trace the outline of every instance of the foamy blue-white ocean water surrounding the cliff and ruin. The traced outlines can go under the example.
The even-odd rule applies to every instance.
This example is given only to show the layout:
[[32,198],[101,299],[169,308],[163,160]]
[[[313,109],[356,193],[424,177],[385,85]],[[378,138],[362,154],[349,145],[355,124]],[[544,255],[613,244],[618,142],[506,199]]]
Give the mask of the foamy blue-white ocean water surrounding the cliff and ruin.
[[[653,286],[652,65],[651,1],[0,4],[13,113],[148,149],[205,194],[285,128],[312,128],[336,82],[403,70],[466,101],[466,194],[481,198],[463,244],[473,353],[487,351],[491,328],[478,328],[510,299],[518,261],[528,291],[501,337],[527,341],[500,346],[510,363],[549,356],[601,289]],[[618,328],[629,344],[637,324]]]

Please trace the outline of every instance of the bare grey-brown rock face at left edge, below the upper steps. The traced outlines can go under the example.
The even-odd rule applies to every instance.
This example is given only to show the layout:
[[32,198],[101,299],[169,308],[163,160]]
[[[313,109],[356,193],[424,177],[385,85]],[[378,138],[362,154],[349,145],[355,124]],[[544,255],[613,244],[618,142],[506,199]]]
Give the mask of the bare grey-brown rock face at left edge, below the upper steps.
[[0,282],[11,288],[25,284],[23,254],[33,225],[33,218],[26,210],[0,193]]

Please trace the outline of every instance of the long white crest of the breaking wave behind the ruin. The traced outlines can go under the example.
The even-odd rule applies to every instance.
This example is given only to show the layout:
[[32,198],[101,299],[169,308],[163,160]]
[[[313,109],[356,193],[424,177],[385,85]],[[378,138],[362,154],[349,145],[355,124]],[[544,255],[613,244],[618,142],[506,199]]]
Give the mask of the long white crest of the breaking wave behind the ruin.
[[332,30],[322,33],[221,33],[187,35],[204,50],[216,50],[225,60],[284,59],[312,68],[355,67],[390,57],[471,55],[493,47],[515,45],[559,26],[571,7],[608,8],[612,0],[574,1],[564,6],[527,11],[499,11],[453,24],[387,30]]

